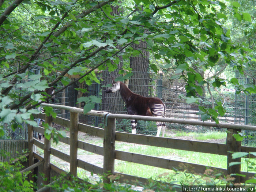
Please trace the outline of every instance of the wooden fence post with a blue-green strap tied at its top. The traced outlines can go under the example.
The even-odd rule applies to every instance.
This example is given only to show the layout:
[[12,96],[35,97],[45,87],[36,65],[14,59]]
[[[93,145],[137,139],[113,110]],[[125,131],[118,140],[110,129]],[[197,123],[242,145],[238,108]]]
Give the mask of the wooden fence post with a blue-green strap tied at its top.
[[[103,140],[103,172],[107,174],[114,174],[115,143],[116,119],[108,118],[108,115],[106,115]],[[109,182],[109,180],[106,180],[105,182]]]

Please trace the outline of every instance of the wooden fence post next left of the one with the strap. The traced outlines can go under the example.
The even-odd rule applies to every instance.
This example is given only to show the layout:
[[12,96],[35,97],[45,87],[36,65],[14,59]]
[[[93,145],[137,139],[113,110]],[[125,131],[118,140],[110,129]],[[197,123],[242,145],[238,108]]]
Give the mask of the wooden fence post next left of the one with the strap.
[[70,112],[70,173],[77,176],[78,113]]

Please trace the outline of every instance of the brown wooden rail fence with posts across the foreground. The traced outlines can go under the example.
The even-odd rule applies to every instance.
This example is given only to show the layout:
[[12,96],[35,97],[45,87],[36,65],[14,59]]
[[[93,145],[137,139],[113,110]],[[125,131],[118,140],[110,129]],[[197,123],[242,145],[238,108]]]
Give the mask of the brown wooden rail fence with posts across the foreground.
[[[62,106],[62,105],[51,105],[51,104],[45,104],[45,103],[42,105],[51,106],[53,108],[58,108],[58,109],[69,110],[71,113],[70,120],[67,120],[61,117],[45,118],[44,114],[38,114],[38,117],[41,119],[45,119],[46,123],[48,124],[51,124],[52,122],[54,122],[56,124],[63,125],[64,127],[69,127],[70,137],[60,138],[60,142],[70,145],[70,154],[72,155],[65,154],[59,150],[52,148],[51,141],[47,139],[45,139],[45,142],[42,143],[39,140],[33,138],[33,131],[44,133],[44,128],[29,126],[29,150],[30,150],[29,166],[33,168],[35,167],[34,158],[37,158],[40,160],[38,164],[40,163],[44,164],[43,169],[44,169],[45,176],[47,178],[44,184],[49,184],[50,169],[59,170],[56,166],[53,166],[50,163],[50,154],[62,159],[63,161],[69,162],[70,173],[73,174],[74,176],[77,176],[77,167],[80,167],[82,169],[85,169],[89,172],[93,172],[96,174],[109,173],[109,172],[111,174],[115,174],[117,173],[115,172],[115,169],[114,169],[115,159],[133,162],[133,163],[140,163],[143,165],[161,167],[164,169],[173,169],[173,167],[179,167],[180,163],[183,163],[183,165],[185,165],[184,169],[187,169],[188,172],[193,172],[196,174],[203,174],[207,169],[207,166],[205,165],[198,165],[195,163],[181,162],[181,161],[175,161],[171,159],[152,157],[152,156],[143,155],[143,154],[119,151],[115,149],[116,141],[201,152],[201,153],[206,153],[206,155],[207,153],[226,155],[227,169],[222,169],[218,167],[211,167],[211,169],[215,169],[219,172],[222,172],[225,175],[231,174],[231,173],[246,175],[246,177],[236,176],[236,182],[244,182],[245,179],[255,174],[255,173],[241,172],[240,165],[234,165],[234,166],[228,166],[228,165],[232,161],[236,161],[236,162],[241,161],[241,159],[232,159],[230,151],[256,152],[255,147],[241,146],[241,142],[236,142],[236,140],[232,136],[233,133],[236,133],[237,131],[241,131],[241,129],[256,131],[256,126],[234,125],[234,124],[227,124],[227,123],[222,123],[217,125],[213,122],[189,121],[189,120],[181,120],[181,119],[174,119],[174,118],[158,118],[158,117],[146,117],[146,116],[125,115],[125,114],[111,114],[107,112],[99,112],[99,111],[91,110],[89,113],[87,113],[87,115],[93,115],[93,116],[104,118],[104,129],[102,129],[102,128],[79,123],[78,114],[83,113],[83,109]],[[135,135],[131,133],[116,132],[115,130],[116,118],[162,121],[166,123],[180,123],[180,124],[227,128],[227,131],[228,131],[227,140],[226,140],[226,144],[220,144],[220,143],[209,143],[209,142],[182,140],[182,139],[174,139],[174,138],[160,138],[155,136],[138,135],[138,134]],[[78,131],[104,138],[103,147],[78,140]],[[44,149],[44,158],[42,158],[40,155],[36,154],[33,151],[34,149],[33,145]],[[98,154],[98,155],[103,155],[103,168],[90,164],[88,162],[82,161],[81,159],[78,159],[78,148]],[[138,180],[144,183],[147,181],[146,178],[136,177],[136,176],[132,176],[124,173],[119,173],[119,174],[122,176],[121,181],[122,180],[123,181]]]

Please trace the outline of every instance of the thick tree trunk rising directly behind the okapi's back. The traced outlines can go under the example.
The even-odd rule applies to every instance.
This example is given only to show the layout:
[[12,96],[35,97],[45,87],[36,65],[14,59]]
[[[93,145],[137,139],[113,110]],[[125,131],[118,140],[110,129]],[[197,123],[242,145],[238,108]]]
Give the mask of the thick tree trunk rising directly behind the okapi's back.
[[149,52],[146,51],[146,42],[140,41],[138,44],[133,44],[133,49],[141,52],[139,56],[130,57],[130,67],[132,68],[133,76],[129,80],[129,89],[132,92],[148,97],[148,66],[149,66]]

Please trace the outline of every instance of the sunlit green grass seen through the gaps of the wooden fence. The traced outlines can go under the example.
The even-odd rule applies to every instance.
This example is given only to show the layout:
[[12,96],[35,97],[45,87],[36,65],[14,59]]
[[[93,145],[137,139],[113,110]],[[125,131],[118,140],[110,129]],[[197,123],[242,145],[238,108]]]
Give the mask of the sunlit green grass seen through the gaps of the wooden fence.
[[[191,137],[192,140],[217,140],[217,139],[225,139],[226,133],[225,132],[217,132],[217,131],[209,131],[206,133],[187,133],[187,132],[172,132],[172,138],[177,137],[185,137],[187,139],[187,136]],[[79,138],[80,140],[86,140],[86,142],[97,144],[99,146],[103,146],[103,139],[102,138],[90,138],[87,137],[85,139]],[[63,143],[59,144],[53,144],[54,148],[59,148],[61,151],[62,149],[66,149],[66,145]],[[203,147],[203,146],[202,146]],[[192,151],[184,151],[184,150],[176,150],[171,148],[162,148],[162,147],[153,147],[153,146],[144,146],[139,144],[133,144],[133,143],[124,143],[124,142],[116,142],[116,150],[122,150],[122,151],[128,151],[131,153],[138,153],[138,154],[145,154],[155,157],[162,157],[167,159],[173,159],[177,161],[182,162],[189,162],[189,163],[196,163],[200,165],[206,165],[210,167],[219,167],[219,168],[227,168],[227,157],[225,155],[215,155],[215,154],[206,154],[206,153],[198,153],[198,152],[192,152]],[[41,151],[42,152],[42,151]],[[64,153],[69,154],[69,151],[63,151]],[[92,155],[93,153],[79,150],[78,154],[82,155]],[[246,159],[241,159],[241,170],[247,171],[248,165],[246,163]],[[254,163],[256,163],[256,160],[254,160]],[[97,165],[97,162],[94,163]],[[101,165],[98,165],[101,166]],[[148,171],[150,170],[150,171]],[[161,174],[169,174],[171,175],[173,181],[181,181],[182,183],[187,183],[194,181],[195,179],[199,179],[199,176],[195,176],[188,173],[182,173],[182,172],[174,172],[173,170],[167,170],[162,169],[158,167],[153,166],[147,166],[147,165],[141,165],[137,163],[131,163],[126,161],[115,161],[115,171],[125,174],[131,174],[139,177],[145,177],[145,178],[159,178],[159,175]],[[248,170],[251,172],[251,170]],[[88,176],[88,173],[83,173],[83,170],[79,169],[79,177],[83,177],[84,175]],[[89,173],[90,175],[90,173]],[[181,177],[182,175],[182,177]],[[184,177],[183,177],[184,176]],[[178,183],[177,183],[178,184]]]

